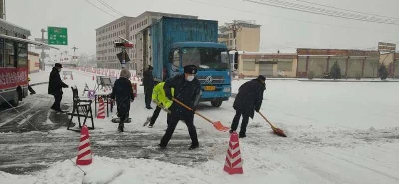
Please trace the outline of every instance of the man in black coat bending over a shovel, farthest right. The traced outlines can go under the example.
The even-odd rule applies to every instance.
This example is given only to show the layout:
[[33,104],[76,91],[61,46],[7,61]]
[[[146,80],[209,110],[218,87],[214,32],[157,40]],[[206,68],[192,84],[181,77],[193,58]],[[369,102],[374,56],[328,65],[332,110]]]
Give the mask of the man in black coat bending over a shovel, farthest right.
[[235,96],[233,104],[235,116],[231,123],[230,133],[237,129],[238,122],[242,115],[239,137],[246,137],[245,132],[249,117],[253,118],[254,111],[259,112],[260,105],[262,105],[263,92],[266,90],[265,80],[266,78],[264,76],[258,76],[258,78],[244,83],[238,89],[238,94]]

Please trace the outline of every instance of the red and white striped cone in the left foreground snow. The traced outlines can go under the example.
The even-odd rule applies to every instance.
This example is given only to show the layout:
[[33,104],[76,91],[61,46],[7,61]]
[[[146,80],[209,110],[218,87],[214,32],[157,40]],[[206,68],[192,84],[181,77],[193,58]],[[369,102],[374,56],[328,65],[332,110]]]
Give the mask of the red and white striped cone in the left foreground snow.
[[76,164],[86,166],[91,164],[93,157],[90,149],[89,130],[87,125],[83,125],[80,131],[80,143],[78,148],[78,156],[76,158]]

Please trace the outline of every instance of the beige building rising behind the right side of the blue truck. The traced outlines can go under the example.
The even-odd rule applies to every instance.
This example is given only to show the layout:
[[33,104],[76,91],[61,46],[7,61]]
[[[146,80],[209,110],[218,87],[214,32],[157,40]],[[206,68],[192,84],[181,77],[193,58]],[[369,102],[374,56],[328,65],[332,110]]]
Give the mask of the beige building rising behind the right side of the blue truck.
[[[238,27],[235,39],[233,31],[230,29],[233,23]],[[228,49],[259,52],[261,25],[250,20],[233,20],[233,23],[224,23],[219,26],[217,41],[226,44]]]

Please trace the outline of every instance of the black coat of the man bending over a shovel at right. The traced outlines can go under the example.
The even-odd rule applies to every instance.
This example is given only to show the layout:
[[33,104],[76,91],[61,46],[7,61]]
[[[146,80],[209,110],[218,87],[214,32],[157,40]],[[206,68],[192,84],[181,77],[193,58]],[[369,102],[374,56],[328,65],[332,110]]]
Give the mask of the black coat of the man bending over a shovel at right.
[[253,79],[241,85],[235,96],[233,107],[253,118],[254,111],[259,111],[262,105],[265,86],[258,79]]

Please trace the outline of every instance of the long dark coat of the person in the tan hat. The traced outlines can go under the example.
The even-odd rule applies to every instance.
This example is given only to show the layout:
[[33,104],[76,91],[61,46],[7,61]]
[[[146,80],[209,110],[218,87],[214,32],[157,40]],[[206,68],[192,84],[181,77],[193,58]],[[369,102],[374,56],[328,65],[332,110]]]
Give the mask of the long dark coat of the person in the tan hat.
[[130,101],[134,100],[133,88],[129,79],[119,78],[112,88],[111,98],[116,98],[118,117],[129,117]]

